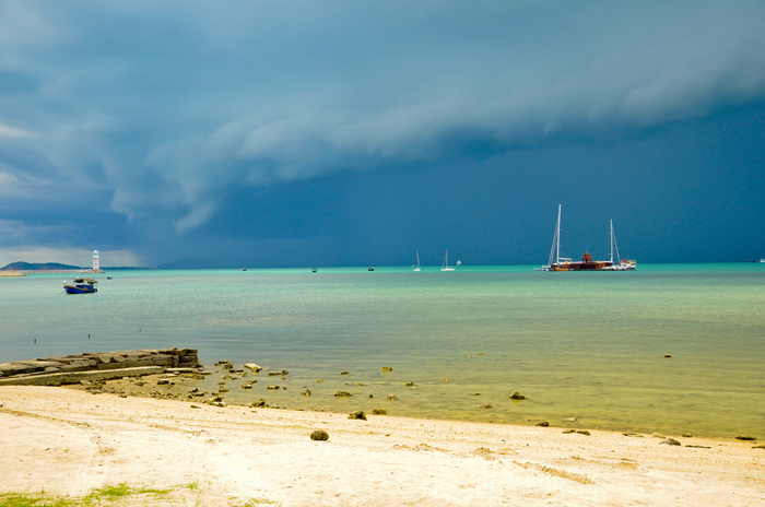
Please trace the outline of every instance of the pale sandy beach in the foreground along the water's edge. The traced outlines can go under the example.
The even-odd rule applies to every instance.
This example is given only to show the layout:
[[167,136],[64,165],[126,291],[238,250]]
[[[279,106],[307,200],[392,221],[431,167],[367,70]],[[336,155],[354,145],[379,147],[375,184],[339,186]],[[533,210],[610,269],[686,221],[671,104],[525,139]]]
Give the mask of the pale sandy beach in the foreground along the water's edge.
[[[136,505],[765,505],[757,443],[214,408],[0,387],[0,492],[173,487]],[[310,440],[322,428],[328,441]],[[185,485],[196,483],[198,488]]]

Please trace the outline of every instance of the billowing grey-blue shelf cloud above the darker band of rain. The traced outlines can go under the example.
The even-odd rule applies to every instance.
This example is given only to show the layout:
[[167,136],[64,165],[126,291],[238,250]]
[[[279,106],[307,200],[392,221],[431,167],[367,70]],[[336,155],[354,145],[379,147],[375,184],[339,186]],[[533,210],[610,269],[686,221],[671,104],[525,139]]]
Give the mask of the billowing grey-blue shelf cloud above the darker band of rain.
[[232,188],[762,99],[763,26],[758,1],[3,1],[0,182],[183,235]]

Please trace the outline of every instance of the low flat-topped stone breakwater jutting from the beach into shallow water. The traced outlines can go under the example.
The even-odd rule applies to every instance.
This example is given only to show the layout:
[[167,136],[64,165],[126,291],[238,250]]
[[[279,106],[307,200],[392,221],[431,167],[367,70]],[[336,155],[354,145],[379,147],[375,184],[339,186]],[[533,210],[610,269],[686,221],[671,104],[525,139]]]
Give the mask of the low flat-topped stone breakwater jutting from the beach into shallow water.
[[166,368],[198,368],[196,349],[151,349],[40,357],[0,364],[0,385],[73,384],[163,373]]

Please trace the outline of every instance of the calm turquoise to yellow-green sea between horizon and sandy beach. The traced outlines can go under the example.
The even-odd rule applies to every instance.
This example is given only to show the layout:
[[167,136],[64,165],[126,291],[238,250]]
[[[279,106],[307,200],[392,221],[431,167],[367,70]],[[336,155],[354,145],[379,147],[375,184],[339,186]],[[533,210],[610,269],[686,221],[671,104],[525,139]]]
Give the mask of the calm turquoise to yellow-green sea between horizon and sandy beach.
[[[59,294],[62,275],[0,279],[0,362],[195,347],[211,369],[229,359],[290,370],[251,390],[229,381],[229,401],[765,437],[765,266],[109,274],[80,296]],[[509,400],[514,390],[527,399]]]

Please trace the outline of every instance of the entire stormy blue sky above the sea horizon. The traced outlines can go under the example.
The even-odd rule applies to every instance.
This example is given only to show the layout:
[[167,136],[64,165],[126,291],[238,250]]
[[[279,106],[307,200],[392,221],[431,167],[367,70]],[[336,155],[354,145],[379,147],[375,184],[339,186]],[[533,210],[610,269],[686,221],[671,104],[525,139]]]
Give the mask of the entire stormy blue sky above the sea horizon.
[[0,266],[765,257],[762,1],[0,0]]

